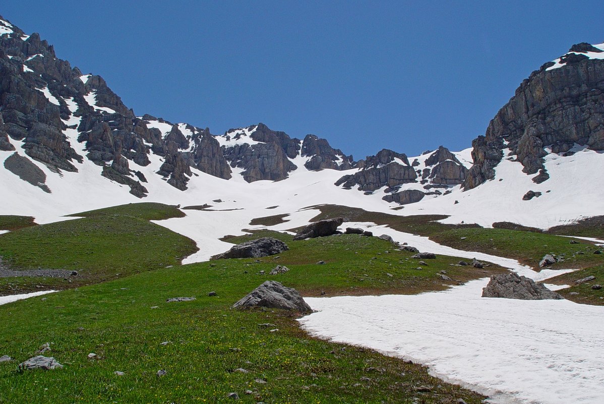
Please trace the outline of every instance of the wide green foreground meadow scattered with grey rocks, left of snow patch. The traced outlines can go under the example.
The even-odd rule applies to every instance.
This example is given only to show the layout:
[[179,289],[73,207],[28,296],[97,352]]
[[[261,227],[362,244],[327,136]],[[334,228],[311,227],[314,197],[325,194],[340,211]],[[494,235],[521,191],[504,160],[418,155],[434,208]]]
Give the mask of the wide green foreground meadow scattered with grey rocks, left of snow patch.
[[[112,216],[100,216],[103,226],[107,217]],[[80,220],[87,219],[59,226],[69,228]],[[94,228],[101,222],[80,223]],[[79,232],[82,238],[82,229]],[[140,233],[139,239],[154,236]],[[242,402],[411,403],[415,397],[425,403],[456,403],[458,398],[481,402],[478,394],[434,379],[418,365],[309,338],[288,313],[240,312],[230,306],[268,279],[308,294],[411,293],[444,287],[435,275],[442,269],[458,280],[486,274],[451,267],[449,263],[458,260],[451,257],[427,260],[429,266],[419,271],[413,269],[417,260],[409,258],[410,252],[394,251],[393,245],[375,237],[292,242],[291,236],[265,231],[230,241],[259,236],[279,237],[291,249],[279,258],[163,268],[0,306],[0,354],[16,359],[0,364],[0,403],[230,402],[226,394],[231,391]],[[43,245],[44,240],[38,241]],[[318,260],[327,263],[318,265]],[[291,271],[259,275],[277,263]],[[211,290],[218,297],[208,297]],[[165,303],[178,296],[197,300]],[[266,322],[274,325],[259,326]],[[170,343],[161,345],[163,341]],[[65,368],[18,373],[16,363],[33,356],[44,342],[54,343],[52,355]],[[91,352],[99,358],[88,359]],[[240,367],[251,373],[233,372]],[[157,377],[159,369],[168,374]],[[116,376],[118,370],[126,374]],[[244,394],[248,389],[254,393]]]

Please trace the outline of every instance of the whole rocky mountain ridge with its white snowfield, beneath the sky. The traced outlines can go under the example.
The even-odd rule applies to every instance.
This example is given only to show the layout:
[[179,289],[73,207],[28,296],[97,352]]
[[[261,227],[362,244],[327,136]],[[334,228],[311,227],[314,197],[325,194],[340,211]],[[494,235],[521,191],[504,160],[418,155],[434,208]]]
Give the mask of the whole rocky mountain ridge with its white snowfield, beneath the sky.
[[471,149],[440,146],[420,156],[384,149],[355,161],[326,139],[291,138],[262,123],[214,135],[137,115],[102,77],[72,68],[39,34],[0,17],[3,210],[56,217],[144,198],[228,200],[246,220],[269,205],[285,214],[316,204],[446,214],[483,226],[547,228],[597,216],[603,59],[604,44],[580,43],[545,63]]

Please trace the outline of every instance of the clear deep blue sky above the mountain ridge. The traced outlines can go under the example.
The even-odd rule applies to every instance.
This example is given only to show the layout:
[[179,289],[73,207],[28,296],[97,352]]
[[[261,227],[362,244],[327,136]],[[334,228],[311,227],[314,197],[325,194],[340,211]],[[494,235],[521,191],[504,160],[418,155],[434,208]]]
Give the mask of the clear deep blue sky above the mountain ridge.
[[602,1],[3,1],[138,115],[262,121],[356,159],[484,134],[531,71],[604,42]]

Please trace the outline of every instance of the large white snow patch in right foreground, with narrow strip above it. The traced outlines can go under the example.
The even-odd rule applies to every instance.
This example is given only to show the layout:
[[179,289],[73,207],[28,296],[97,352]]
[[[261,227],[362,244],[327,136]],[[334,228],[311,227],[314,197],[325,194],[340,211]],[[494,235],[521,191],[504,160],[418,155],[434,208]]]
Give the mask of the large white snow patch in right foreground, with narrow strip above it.
[[[411,236],[383,230],[394,239]],[[440,247],[440,254],[454,255]],[[482,255],[455,255],[468,254]],[[507,258],[488,260],[539,280],[564,272],[537,273]],[[485,394],[492,403],[604,402],[604,307],[482,298],[487,282],[420,295],[306,298],[318,312],[299,321],[314,336],[428,365],[432,375]]]

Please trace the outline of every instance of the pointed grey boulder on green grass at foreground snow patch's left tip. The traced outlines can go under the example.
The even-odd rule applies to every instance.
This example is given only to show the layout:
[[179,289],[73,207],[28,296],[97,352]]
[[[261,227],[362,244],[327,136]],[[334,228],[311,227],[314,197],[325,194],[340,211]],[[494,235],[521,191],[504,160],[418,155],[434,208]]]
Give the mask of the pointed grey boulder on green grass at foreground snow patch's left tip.
[[252,290],[244,298],[233,304],[233,309],[257,306],[269,307],[271,309],[297,310],[304,313],[312,311],[297,290],[283,286],[283,284],[275,281],[266,281]]

